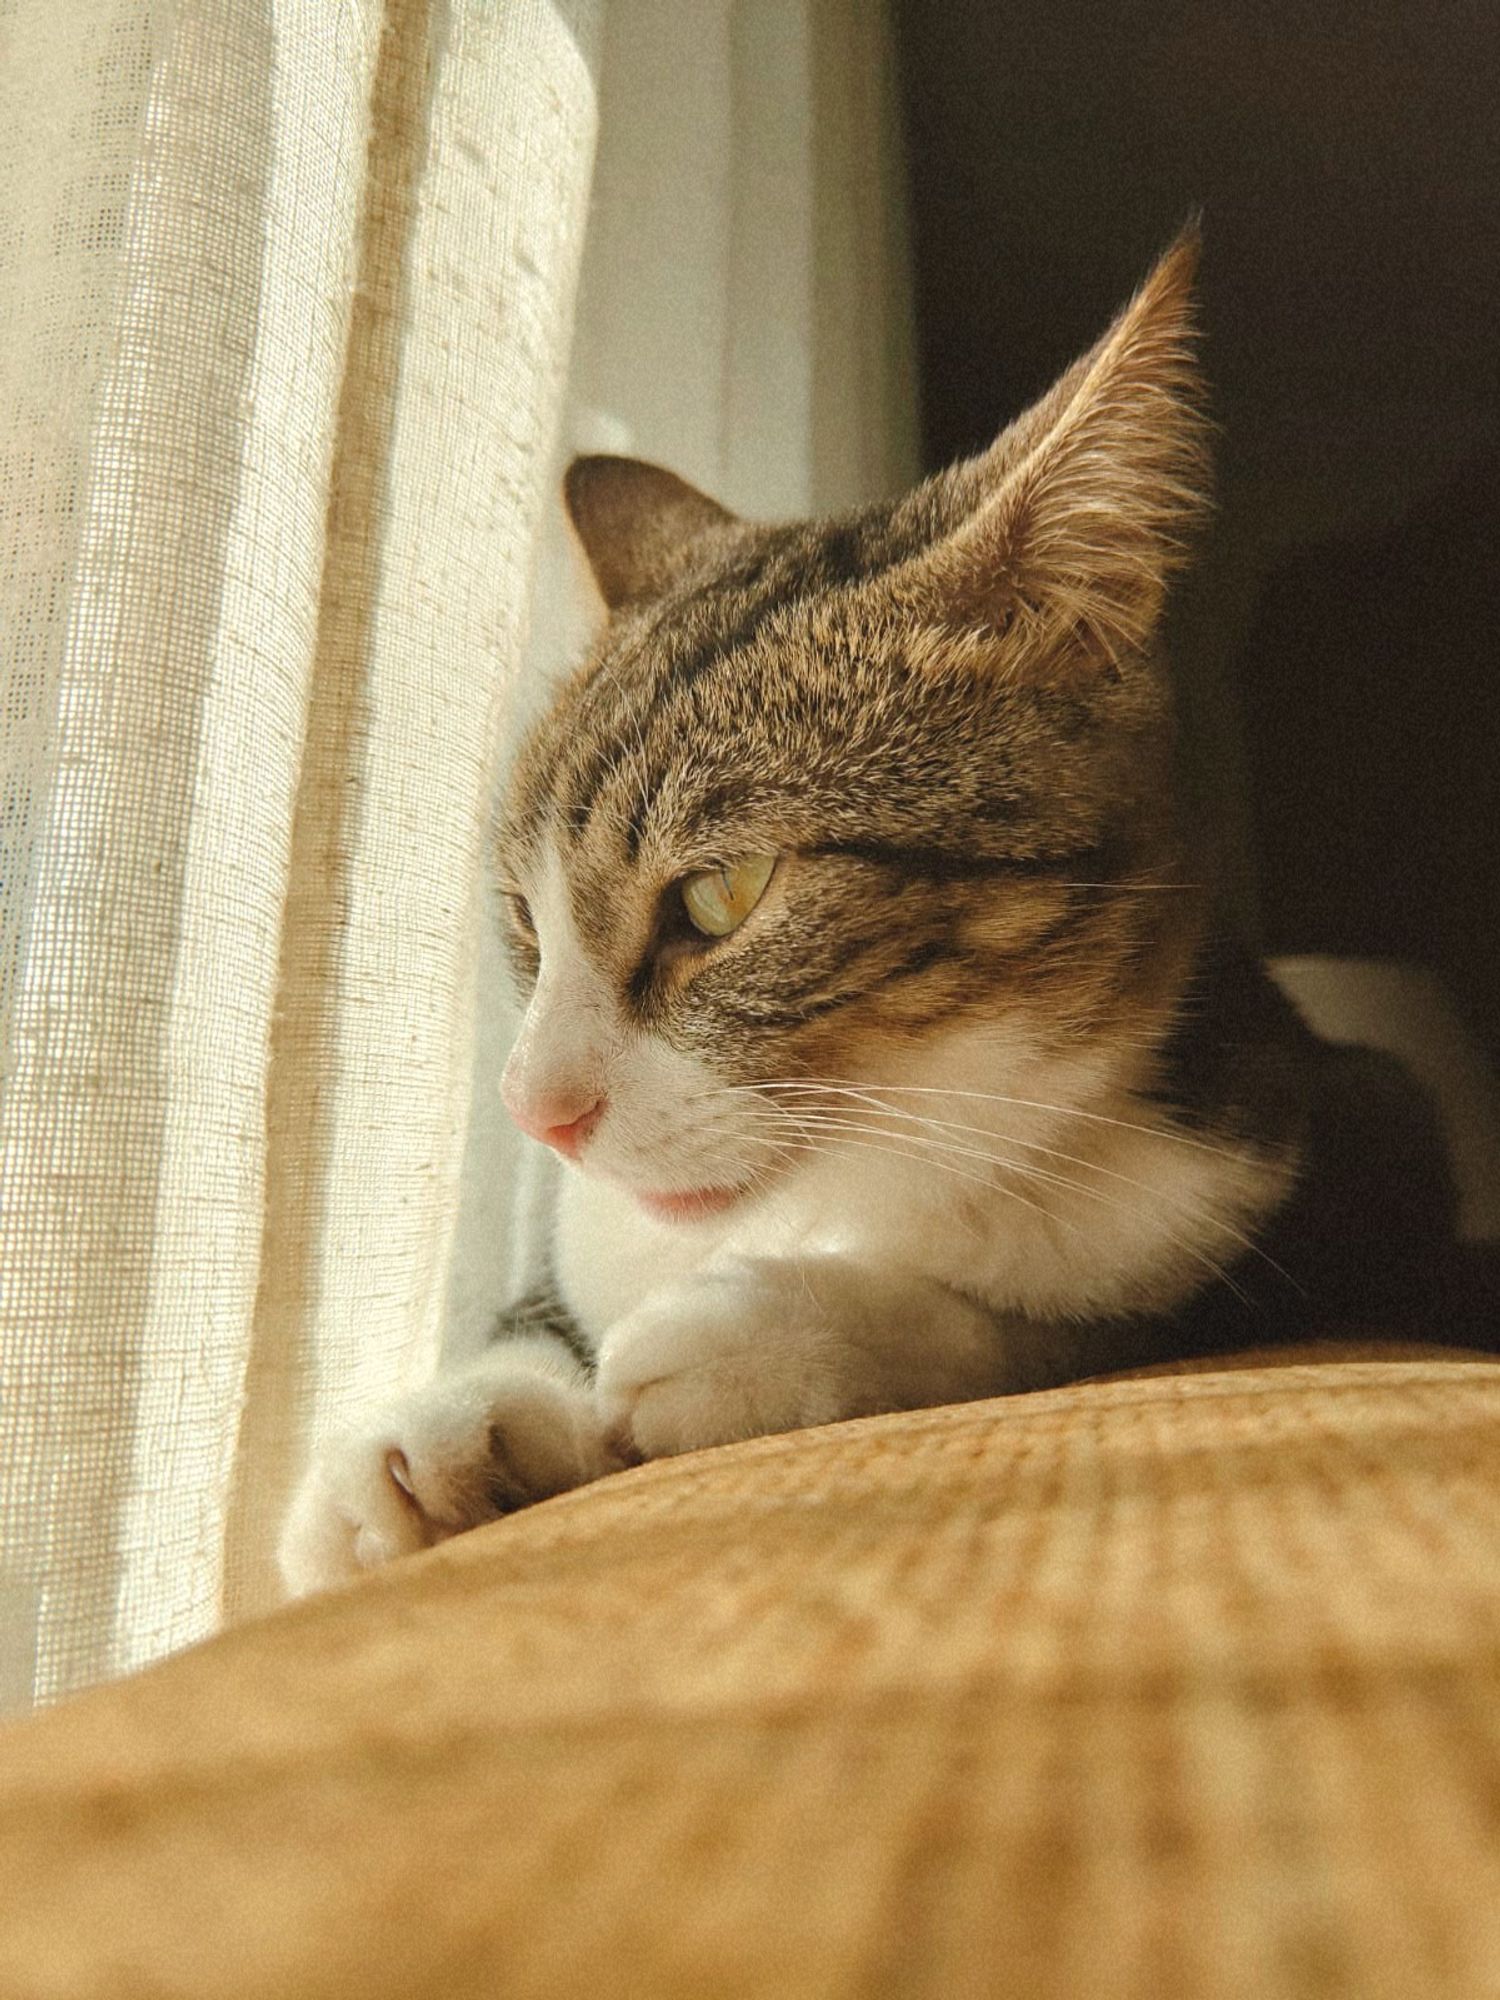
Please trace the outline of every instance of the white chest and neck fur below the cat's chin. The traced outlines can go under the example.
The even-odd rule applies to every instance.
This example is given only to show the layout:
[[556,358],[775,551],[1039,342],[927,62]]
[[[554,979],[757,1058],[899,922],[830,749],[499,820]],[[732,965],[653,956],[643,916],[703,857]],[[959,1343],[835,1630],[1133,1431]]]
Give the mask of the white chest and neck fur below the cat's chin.
[[978,1084],[992,1074],[984,1056],[950,1044],[922,1082],[888,1092],[890,1116],[850,1102],[860,1134],[830,1134],[770,1196],[726,1216],[658,1222],[568,1172],[556,1276],[584,1334],[598,1342],[724,1254],[840,1254],[996,1314],[1166,1310],[1234,1262],[1286,1190],[1290,1160],[1184,1132],[1118,1084],[1080,1092],[1076,1076],[1032,1066],[994,1098]]

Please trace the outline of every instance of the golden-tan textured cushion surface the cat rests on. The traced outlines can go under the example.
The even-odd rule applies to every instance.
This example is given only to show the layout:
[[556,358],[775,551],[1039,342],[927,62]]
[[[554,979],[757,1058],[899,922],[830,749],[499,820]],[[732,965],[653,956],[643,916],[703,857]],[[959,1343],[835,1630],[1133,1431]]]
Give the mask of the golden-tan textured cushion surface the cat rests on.
[[6,2000],[1500,1992],[1500,1366],[646,1466],[14,1726],[0,1882]]

